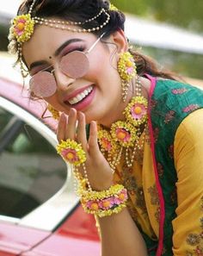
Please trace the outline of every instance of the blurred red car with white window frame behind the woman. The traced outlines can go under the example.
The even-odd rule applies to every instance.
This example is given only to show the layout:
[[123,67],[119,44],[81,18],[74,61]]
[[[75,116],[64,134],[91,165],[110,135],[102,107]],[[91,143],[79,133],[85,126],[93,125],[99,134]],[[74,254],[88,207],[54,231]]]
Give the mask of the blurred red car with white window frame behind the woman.
[[99,256],[100,241],[56,153],[56,123],[0,78],[0,256]]

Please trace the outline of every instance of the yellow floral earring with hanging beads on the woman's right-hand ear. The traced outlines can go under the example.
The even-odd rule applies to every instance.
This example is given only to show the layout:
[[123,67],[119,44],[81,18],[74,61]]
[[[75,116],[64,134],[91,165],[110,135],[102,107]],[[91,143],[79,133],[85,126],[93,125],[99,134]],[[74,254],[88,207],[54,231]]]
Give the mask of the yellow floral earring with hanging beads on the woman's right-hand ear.
[[125,103],[130,81],[137,75],[136,65],[131,53],[126,52],[120,54],[118,72],[121,78],[122,98]]

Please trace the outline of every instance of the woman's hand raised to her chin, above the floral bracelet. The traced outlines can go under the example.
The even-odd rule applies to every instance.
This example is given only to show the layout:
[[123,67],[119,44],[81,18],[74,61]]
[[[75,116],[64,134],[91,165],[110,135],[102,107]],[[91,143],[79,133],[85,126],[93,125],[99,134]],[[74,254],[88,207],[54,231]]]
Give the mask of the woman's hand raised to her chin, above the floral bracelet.
[[[85,116],[82,112],[71,109],[69,116],[63,113],[58,122],[58,142],[71,139],[81,143],[87,158],[85,166],[89,184],[93,190],[108,190],[113,184],[113,171],[98,146],[96,122],[90,123],[89,140],[86,137],[85,125]],[[80,171],[83,173],[83,168],[80,168]]]

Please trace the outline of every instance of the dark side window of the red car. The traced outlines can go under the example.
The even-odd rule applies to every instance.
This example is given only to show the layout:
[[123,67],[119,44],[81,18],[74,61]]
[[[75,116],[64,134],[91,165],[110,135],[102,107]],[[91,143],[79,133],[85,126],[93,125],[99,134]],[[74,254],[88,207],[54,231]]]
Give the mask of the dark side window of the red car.
[[27,215],[63,186],[66,170],[49,141],[0,107],[0,215]]

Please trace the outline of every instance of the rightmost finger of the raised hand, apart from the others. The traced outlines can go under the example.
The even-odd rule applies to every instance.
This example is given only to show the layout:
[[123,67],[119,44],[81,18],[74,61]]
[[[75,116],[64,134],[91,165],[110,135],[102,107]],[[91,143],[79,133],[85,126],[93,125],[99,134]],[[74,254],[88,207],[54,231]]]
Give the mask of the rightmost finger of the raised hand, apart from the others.
[[89,131],[89,154],[93,157],[94,154],[97,154],[100,151],[99,145],[97,142],[97,125],[95,121],[90,123]]

